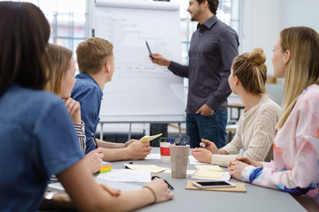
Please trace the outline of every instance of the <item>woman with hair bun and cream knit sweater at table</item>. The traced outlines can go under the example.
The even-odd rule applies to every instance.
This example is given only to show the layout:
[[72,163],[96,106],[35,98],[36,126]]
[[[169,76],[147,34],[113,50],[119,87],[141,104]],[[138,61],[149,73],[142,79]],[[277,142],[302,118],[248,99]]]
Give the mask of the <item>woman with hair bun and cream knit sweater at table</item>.
[[245,110],[239,117],[233,140],[225,147],[218,149],[214,142],[202,140],[202,148],[191,150],[199,162],[227,166],[241,148],[251,160],[269,161],[273,158],[272,144],[281,109],[265,94],[265,61],[261,48],[235,57],[229,83],[232,92],[244,103]]

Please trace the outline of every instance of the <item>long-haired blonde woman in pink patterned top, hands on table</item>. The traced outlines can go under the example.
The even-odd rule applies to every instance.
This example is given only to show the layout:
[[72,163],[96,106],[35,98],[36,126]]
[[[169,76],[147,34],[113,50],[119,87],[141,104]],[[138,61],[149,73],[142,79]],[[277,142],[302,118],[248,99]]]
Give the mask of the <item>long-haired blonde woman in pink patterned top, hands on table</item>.
[[274,140],[274,161],[238,157],[230,174],[246,182],[316,197],[319,193],[319,34],[309,27],[285,28],[272,62],[285,78],[283,112]]

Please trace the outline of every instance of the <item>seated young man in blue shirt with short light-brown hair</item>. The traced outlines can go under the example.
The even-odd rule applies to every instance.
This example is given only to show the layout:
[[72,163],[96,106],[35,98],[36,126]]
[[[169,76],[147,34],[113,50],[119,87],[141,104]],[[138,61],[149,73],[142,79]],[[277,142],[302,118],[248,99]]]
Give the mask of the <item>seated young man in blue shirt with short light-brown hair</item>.
[[[81,117],[85,124],[86,154],[95,149],[91,133],[97,130],[99,111],[105,83],[110,81],[114,72],[113,44],[102,38],[89,38],[76,49],[80,74],[71,97],[81,104]],[[125,144],[98,140],[104,161],[141,160],[151,153],[150,142],[141,143],[129,140]]]

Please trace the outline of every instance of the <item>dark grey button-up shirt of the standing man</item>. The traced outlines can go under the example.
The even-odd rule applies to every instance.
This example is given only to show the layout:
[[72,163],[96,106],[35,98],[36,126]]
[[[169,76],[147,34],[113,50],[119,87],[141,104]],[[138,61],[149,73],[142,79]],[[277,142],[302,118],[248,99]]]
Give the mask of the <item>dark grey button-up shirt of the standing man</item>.
[[231,93],[228,77],[238,45],[236,31],[216,16],[198,24],[191,37],[189,65],[172,61],[168,67],[176,75],[189,78],[187,113],[196,113],[203,104],[213,110],[227,110]]

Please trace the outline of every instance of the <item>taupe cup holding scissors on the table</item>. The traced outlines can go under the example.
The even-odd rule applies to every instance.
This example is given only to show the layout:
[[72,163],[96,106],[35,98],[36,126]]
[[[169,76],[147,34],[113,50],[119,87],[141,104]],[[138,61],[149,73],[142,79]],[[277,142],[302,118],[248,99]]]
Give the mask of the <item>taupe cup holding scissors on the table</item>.
[[188,157],[190,155],[190,146],[170,147],[172,178],[186,178]]

